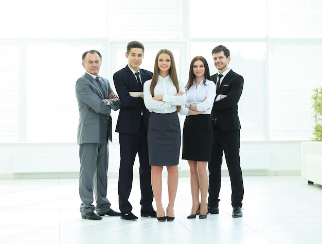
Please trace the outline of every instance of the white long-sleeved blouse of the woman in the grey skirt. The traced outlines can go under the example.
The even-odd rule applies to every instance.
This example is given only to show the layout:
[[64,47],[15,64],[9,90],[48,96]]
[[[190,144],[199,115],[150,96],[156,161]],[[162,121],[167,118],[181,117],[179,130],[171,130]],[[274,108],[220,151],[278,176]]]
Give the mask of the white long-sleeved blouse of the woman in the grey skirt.
[[[152,79],[147,80],[143,87],[144,104],[150,112],[173,113],[176,111],[176,106],[184,106],[186,104],[186,93],[181,96],[176,96],[177,91],[172,83],[170,75],[165,78],[158,75],[157,84],[154,88],[154,95],[163,94],[162,101],[157,101],[152,98],[150,92],[151,82]],[[185,91],[185,85],[180,81],[178,81],[178,83],[179,91]]]

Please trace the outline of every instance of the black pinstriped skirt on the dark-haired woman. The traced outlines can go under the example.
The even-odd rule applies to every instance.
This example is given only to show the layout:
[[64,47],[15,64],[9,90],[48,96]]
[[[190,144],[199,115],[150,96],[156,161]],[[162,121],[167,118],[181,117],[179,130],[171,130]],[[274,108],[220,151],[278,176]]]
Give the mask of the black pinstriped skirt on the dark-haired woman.
[[182,137],[182,159],[210,161],[212,140],[210,114],[186,116]]

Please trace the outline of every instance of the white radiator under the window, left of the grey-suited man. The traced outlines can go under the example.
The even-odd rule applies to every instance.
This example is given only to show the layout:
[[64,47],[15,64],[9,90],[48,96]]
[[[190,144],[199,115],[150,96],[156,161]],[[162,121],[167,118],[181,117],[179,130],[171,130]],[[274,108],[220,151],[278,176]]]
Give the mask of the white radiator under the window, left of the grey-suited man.
[[12,155],[12,173],[79,172],[77,153],[15,154]]

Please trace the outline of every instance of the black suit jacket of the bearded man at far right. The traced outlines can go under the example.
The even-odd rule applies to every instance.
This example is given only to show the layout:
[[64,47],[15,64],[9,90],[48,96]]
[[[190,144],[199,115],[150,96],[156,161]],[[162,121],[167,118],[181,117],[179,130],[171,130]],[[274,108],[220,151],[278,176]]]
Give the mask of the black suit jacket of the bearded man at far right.
[[[217,82],[217,74],[211,75],[210,79]],[[241,129],[238,117],[238,101],[243,91],[243,76],[230,70],[224,77],[220,87],[217,89],[217,95],[227,95],[227,97],[214,101],[211,110],[212,118],[217,118],[217,123],[222,131],[231,131]]]

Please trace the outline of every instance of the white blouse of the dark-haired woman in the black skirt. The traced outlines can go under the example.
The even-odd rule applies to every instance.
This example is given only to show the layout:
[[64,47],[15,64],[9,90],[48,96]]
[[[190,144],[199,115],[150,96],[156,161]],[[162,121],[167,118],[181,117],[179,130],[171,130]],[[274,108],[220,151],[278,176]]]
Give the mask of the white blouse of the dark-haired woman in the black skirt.
[[[202,81],[198,87],[196,87],[193,81],[192,86],[186,91],[187,103],[197,104],[198,111],[205,111],[203,114],[210,114],[214,98],[216,97],[216,85],[209,79],[206,79],[205,84],[206,85],[204,85],[204,82]],[[182,106],[180,114],[188,115],[188,111],[189,109]]]

